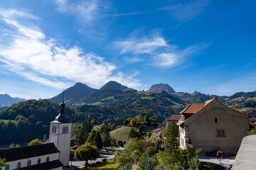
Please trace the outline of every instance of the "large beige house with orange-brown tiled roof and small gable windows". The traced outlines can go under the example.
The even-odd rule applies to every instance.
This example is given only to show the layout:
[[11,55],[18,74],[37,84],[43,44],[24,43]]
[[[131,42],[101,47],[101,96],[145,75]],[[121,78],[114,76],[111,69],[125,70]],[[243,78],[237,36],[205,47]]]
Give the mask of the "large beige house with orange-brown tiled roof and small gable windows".
[[180,147],[201,148],[203,152],[220,149],[225,154],[238,152],[242,138],[249,134],[248,116],[228,108],[216,97],[205,103],[191,103],[178,120]]

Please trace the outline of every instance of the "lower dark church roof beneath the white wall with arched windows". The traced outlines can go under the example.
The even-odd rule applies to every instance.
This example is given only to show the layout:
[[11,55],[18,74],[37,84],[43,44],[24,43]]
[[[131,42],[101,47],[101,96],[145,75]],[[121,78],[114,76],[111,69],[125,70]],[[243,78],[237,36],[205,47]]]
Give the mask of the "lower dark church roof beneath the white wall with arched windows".
[[27,166],[27,167],[23,167],[20,168],[18,170],[49,170],[49,169],[55,169],[58,167],[63,166],[63,164],[59,161],[59,160],[55,160],[52,162],[45,162],[42,164],[36,164],[36,165],[32,165],[32,166]]

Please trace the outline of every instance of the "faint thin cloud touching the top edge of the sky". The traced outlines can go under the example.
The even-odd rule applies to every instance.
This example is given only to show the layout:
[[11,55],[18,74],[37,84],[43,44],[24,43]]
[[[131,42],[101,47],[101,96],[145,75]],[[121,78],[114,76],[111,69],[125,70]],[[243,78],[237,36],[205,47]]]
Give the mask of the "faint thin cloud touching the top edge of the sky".
[[60,13],[73,16],[79,24],[79,32],[90,40],[103,40],[108,34],[112,10],[108,0],[55,0]]

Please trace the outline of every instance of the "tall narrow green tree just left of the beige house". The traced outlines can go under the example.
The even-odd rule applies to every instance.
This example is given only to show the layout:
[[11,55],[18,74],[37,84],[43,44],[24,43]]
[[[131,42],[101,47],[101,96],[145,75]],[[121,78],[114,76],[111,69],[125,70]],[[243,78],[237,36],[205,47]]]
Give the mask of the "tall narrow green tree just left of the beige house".
[[164,129],[164,151],[168,152],[169,154],[172,152],[173,149],[178,148],[178,127],[172,122],[167,128]]

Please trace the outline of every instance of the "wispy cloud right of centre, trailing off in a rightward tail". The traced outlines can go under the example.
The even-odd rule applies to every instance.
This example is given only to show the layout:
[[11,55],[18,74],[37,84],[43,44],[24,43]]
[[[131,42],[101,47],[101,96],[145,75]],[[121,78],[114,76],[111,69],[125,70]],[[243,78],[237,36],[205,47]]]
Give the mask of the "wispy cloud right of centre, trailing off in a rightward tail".
[[142,62],[147,58],[150,65],[163,68],[182,64],[185,59],[208,47],[208,45],[208,43],[201,43],[181,49],[177,45],[170,44],[160,33],[144,37],[132,33],[126,40],[113,42],[113,47],[119,50],[119,55],[133,55],[132,57],[124,57],[126,62]]

